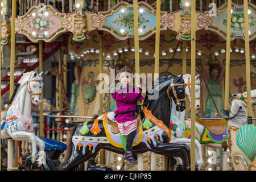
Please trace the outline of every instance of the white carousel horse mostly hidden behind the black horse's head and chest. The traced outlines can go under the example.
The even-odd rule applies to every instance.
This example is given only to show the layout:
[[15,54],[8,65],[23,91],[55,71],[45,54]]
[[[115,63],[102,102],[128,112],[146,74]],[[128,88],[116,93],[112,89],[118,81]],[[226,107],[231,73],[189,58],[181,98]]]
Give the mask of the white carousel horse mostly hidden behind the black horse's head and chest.
[[[196,80],[196,109],[200,108],[200,86],[201,81],[199,79],[200,75],[197,75]],[[185,82],[185,94],[188,97],[190,101],[191,106],[191,75],[185,74],[183,75],[183,80]],[[172,101],[172,107],[175,107],[174,101]],[[171,111],[171,122],[174,123],[175,126],[172,130],[172,138],[170,143],[184,143],[187,144],[188,147],[191,147],[191,139],[184,137],[185,132],[185,126],[184,126],[184,120],[185,120],[185,110],[180,112],[176,111],[175,109],[172,109]],[[196,156],[196,164],[197,168],[201,168],[203,165],[203,156],[201,152],[201,144],[199,141],[195,141],[195,156]],[[179,158],[175,158],[179,164],[182,165],[182,161]]]

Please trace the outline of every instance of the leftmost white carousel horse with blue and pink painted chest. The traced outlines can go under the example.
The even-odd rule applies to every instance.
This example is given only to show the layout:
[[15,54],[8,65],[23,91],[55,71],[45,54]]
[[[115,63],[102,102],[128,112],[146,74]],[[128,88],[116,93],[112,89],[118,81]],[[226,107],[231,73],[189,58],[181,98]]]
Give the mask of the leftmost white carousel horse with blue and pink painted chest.
[[31,143],[32,163],[34,163],[37,158],[36,145],[38,145],[39,158],[37,161],[39,166],[46,164],[46,153],[44,152],[43,140],[32,133],[34,130],[34,122],[31,117],[31,100],[34,105],[39,105],[42,101],[42,75],[43,72],[40,74],[34,71],[23,73],[23,76],[18,82],[19,88],[16,90],[13,102],[7,106],[5,117],[1,117],[1,138],[12,138],[14,140]]

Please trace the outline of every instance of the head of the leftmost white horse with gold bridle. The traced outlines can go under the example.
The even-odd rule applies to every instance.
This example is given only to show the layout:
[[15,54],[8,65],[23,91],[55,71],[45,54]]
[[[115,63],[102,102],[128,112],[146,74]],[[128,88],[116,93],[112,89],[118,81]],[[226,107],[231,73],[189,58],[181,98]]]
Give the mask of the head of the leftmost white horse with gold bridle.
[[40,74],[36,72],[31,72],[28,75],[27,80],[27,91],[31,95],[32,103],[35,105],[39,105],[42,102],[42,90],[43,90],[43,72]]

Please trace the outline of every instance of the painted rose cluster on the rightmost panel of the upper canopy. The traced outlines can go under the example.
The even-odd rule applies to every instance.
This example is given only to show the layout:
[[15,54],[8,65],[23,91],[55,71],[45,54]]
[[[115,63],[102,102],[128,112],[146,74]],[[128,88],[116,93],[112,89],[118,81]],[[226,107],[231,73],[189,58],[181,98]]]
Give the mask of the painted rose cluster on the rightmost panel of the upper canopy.
[[[248,19],[249,27],[254,26],[254,17],[249,16]],[[226,18],[223,20],[223,24],[226,26]],[[231,28],[233,28],[234,31],[241,30],[243,31],[243,28],[245,27],[245,22],[243,19],[242,13],[233,13],[231,15]]]

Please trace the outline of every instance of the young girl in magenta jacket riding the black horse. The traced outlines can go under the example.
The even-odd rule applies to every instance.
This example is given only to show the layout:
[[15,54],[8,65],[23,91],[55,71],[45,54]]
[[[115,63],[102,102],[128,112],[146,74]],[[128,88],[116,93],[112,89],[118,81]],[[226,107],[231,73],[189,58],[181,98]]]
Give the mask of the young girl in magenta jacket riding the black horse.
[[[119,84],[122,86],[121,89],[112,94],[115,104],[117,105],[117,110],[114,111],[115,114],[122,111],[134,110],[136,108],[136,102],[144,100],[144,97],[141,95],[141,86],[137,85],[137,88],[134,89],[132,85],[129,85],[131,82],[129,73],[133,73],[129,68],[123,68],[119,72]],[[118,123],[118,129],[121,134],[127,136],[126,151],[123,159],[130,163],[138,163],[137,160],[134,159],[133,154],[131,154],[131,147],[137,130],[137,117],[135,111],[118,114],[115,117],[115,120]]]

